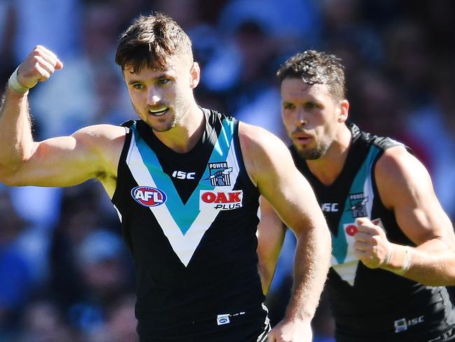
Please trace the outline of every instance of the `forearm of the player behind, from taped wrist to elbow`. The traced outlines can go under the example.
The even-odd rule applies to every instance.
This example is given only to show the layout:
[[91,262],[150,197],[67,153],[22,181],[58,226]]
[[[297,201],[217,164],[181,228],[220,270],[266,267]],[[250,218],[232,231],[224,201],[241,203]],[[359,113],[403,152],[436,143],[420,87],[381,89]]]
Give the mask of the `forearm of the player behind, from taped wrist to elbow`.
[[392,244],[390,261],[382,268],[424,285],[455,285],[455,252],[436,238],[418,247]]

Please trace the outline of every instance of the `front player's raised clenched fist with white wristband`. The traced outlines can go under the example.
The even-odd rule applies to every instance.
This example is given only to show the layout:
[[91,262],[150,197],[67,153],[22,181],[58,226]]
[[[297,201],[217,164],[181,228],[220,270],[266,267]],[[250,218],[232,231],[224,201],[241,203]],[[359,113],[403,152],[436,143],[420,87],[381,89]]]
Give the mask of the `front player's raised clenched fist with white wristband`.
[[16,93],[26,93],[39,81],[47,80],[56,69],[62,69],[63,63],[55,53],[38,45],[25,58],[11,75],[8,86]]

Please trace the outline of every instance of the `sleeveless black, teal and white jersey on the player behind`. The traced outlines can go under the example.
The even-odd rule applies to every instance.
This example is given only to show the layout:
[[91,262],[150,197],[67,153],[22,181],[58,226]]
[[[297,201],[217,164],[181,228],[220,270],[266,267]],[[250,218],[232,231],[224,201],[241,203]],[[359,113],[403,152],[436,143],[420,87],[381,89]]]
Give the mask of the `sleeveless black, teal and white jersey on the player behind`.
[[386,209],[374,180],[374,165],[400,143],[362,132],[350,123],[352,141],[344,168],[330,186],[309,171],[295,149],[297,167],[313,187],[332,235],[328,292],[337,341],[430,341],[455,324],[445,287],[428,287],[382,269],[367,268],[353,254],[355,219],[368,217],[382,226],[388,240],[413,245]]

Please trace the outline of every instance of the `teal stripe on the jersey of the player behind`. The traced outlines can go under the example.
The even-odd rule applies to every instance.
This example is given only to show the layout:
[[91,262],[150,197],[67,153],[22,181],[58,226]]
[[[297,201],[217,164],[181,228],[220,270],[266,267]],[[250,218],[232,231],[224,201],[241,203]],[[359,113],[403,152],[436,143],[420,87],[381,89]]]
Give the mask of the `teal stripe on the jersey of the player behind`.
[[[365,158],[362,166],[359,168],[356,177],[354,178],[349,193],[363,193],[365,183],[371,177],[371,164],[374,158],[379,153],[377,146],[372,146],[370,152]],[[373,200],[370,198],[369,200]],[[371,213],[369,213],[371,214]],[[338,235],[332,235],[332,255],[337,259],[338,264],[343,264],[346,260],[348,245],[346,242],[346,235],[344,234],[344,224],[353,223],[356,219],[353,217],[351,210],[351,203],[349,202],[349,194],[346,197],[346,203],[344,203],[344,209],[341,219],[338,225]]]

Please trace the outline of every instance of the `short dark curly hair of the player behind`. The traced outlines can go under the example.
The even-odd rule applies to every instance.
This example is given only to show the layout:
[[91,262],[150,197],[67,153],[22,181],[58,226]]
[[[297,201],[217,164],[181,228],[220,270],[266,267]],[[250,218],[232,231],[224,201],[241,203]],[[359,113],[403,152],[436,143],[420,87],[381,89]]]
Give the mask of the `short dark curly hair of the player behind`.
[[281,64],[276,76],[280,84],[285,78],[301,78],[304,83],[311,86],[327,84],[330,94],[338,100],[344,99],[346,95],[344,66],[335,55],[316,50],[297,53]]

